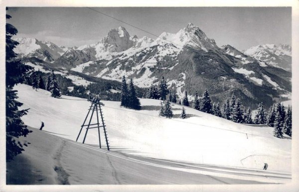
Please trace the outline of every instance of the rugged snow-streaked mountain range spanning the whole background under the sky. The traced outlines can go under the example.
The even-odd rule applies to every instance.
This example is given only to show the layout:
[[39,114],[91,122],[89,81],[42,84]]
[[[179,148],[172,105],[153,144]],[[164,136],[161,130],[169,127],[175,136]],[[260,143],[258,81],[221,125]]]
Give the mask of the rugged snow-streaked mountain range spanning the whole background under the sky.
[[245,51],[218,47],[192,23],[175,34],[163,32],[156,40],[130,36],[124,27],[113,28],[100,41],[78,48],[15,40],[20,42],[15,52],[26,61],[108,80],[121,81],[125,75],[139,87],[157,84],[164,76],[180,97],[184,91],[194,96],[208,89],[216,102],[234,93],[256,108],[258,102],[269,106],[292,90],[291,46],[267,44]]

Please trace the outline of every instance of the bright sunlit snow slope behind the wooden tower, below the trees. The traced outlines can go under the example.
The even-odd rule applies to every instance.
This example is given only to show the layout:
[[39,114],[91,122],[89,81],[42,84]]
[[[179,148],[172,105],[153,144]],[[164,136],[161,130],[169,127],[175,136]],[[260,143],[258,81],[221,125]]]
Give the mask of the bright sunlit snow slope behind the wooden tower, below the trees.
[[[90,102],[70,96],[53,98],[26,85],[18,85],[16,90],[23,108],[30,108],[22,117],[25,124],[38,128],[43,121],[45,131],[76,140]],[[272,127],[237,124],[189,107],[188,118],[180,119],[182,106],[177,104],[171,104],[174,117],[166,119],[158,116],[160,101],[153,99],[141,99],[139,111],[120,107],[120,102],[103,102],[112,151],[243,168],[262,169],[268,163],[269,170],[291,171],[292,140],[274,137]],[[98,142],[97,130],[90,130],[86,143]]]

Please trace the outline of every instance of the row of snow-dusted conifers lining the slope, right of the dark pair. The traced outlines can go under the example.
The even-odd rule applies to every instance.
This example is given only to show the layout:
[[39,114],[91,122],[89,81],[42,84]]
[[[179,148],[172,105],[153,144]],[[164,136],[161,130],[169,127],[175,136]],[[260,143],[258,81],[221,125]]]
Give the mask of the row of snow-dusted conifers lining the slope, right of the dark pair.
[[[284,105],[281,102],[278,102],[273,104],[267,113],[263,102],[261,102],[258,105],[255,117],[252,118],[251,108],[243,106],[240,99],[234,94],[230,98],[227,98],[220,107],[219,103],[212,102],[208,90],[205,90],[201,97],[199,97],[196,92],[192,101],[189,101],[187,92],[185,91],[181,101],[180,99],[177,99],[175,91],[171,92],[167,87],[167,83],[162,77],[158,86],[152,85],[145,94],[146,98],[163,100],[159,111],[160,116],[167,118],[173,116],[170,102],[182,104],[184,106],[192,105],[192,108],[196,110],[210,113],[236,123],[267,124],[274,127],[273,135],[278,138],[283,138],[283,133],[292,137],[292,106],[289,106],[286,111]],[[186,118],[185,108],[182,109],[180,118]]]

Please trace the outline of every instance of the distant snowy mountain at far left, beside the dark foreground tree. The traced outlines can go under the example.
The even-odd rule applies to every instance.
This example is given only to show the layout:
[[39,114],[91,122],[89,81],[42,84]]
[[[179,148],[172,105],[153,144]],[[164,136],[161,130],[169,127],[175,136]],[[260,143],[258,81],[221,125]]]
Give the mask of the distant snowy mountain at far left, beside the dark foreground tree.
[[39,41],[35,38],[14,38],[19,42],[13,51],[21,58],[35,57],[37,59],[52,62],[57,60],[67,50],[71,48],[60,47],[49,41]]

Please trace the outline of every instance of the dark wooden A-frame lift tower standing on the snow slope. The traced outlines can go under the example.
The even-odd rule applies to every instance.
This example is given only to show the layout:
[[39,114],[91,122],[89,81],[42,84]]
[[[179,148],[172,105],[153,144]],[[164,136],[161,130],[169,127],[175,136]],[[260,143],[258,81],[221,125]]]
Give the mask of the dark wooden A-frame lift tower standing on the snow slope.
[[[105,126],[105,123],[104,123],[104,117],[103,117],[103,112],[102,112],[102,108],[101,108],[101,106],[104,106],[104,103],[100,102],[99,97],[95,97],[93,99],[88,99],[88,100],[91,101],[91,106],[90,106],[90,108],[87,112],[87,115],[85,117],[85,120],[84,120],[83,124],[81,125],[81,129],[80,129],[80,132],[78,134],[78,137],[77,137],[76,141],[78,141],[83,127],[86,127],[86,132],[85,132],[84,139],[83,139],[82,143],[85,142],[86,135],[87,135],[87,132],[88,132],[89,129],[98,128],[99,144],[100,144],[100,148],[102,148],[101,147],[101,137],[100,137],[100,127],[103,127],[104,128],[105,139],[106,139],[106,145],[107,145],[107,149],[109,151],[110,148],[109,148],[109,143],[108,143],[107,130],[106,130],[106,126]],[[91,112],[91,116],[89,118],[88,124],[85,124],[86,120],[88,119],[88,116],[89,116],[90,112]],[[94,116],[94,113],[95,113],[95,116],[97,116],[96,117],[97,118],[97,123],[91,124],[91,120]],[[102,124],[100,123],[100,120],[99,120],[99,113],[101,115]]]

